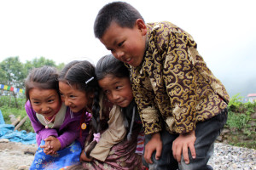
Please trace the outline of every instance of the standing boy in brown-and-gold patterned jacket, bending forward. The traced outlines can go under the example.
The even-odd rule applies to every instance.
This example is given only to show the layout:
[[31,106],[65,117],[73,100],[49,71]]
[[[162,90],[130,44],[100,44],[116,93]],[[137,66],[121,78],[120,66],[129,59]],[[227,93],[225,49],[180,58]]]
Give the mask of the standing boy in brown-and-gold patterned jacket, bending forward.
[[131,69],[150,169],[177,169],[173,158],[179,169],[211,169],[207,161],[230,98],[193,37],[170,22],[145,24],[137,9],[123,2],[99,11],[94,32]]

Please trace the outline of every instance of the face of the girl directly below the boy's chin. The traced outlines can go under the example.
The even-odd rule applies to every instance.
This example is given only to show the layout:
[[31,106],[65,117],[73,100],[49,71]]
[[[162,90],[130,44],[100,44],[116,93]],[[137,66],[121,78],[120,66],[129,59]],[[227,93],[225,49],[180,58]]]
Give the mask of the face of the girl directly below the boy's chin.
[[103,92],[113,104],[127,107],[131,103],[133,95],[128,77],[107,76],[98,82]]

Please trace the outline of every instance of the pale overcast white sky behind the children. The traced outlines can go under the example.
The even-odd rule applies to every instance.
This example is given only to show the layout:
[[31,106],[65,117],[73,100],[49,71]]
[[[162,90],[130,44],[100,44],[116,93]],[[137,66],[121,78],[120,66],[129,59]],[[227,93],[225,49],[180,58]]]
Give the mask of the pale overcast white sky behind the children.
[[[56,64],[109,54],[94,37],[96,14],[107,0],[0,0],[0,62],[43,56]],[[238,84],[256,77],[254,0],[127,0],[146,22],[171,21],[188,31],[213,74]],[[227,85],[230,86],[231,85]],[[255,89],[256,93],[256,89]]]

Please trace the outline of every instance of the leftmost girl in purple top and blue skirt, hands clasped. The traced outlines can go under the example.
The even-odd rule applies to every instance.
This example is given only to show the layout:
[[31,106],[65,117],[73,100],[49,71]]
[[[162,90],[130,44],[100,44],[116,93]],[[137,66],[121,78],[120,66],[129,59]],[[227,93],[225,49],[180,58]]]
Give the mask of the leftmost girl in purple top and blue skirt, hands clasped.
[[79,162],[88,134],[79,124],[82,116],[88,123],[90,115],[62,104],[57,77],[55,68],[44,66],[33,69],[26,78],[25,109],[40,145],[30,169],[59,169]]

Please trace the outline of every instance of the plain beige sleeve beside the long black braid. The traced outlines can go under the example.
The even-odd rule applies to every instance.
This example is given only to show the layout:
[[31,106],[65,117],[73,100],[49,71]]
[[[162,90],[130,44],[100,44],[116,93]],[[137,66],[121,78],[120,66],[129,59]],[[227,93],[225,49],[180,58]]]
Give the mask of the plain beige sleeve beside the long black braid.
[[108,129],[102,133],[101,139],[91,150],[90,156],[100,161],[105,161],[114,144],[118,144],[125,139],[125,124],[121,109],[117,105],[113,105],[109,113]]

